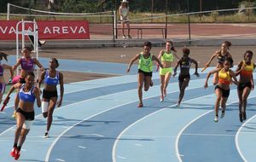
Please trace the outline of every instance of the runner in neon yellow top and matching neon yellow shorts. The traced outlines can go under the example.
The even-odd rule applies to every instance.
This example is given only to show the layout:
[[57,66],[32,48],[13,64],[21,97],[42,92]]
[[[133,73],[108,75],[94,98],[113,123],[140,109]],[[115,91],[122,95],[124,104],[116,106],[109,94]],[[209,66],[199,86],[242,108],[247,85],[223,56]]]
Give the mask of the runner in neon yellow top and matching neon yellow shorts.
[[172,76],[172,61],[174,57],[179,60],[179,57],[176,54],[176,50],[173,47],[172,41],[166,41],[166,49],[162,49],[158,56],[158,59],[161,60],[163,65],[163,68],[160,68],[160,101],[164,101],[164,97],[167,94],[166,89]]

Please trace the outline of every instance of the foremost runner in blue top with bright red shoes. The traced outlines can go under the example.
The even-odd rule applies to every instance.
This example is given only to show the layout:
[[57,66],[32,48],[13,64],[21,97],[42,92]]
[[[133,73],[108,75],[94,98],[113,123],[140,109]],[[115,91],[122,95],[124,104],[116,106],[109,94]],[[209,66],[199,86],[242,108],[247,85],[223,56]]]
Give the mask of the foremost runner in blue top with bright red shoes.
[[18,95],[20,98],[19,108],[16,110],[16,123],[17,127],[15,130],[15,142],[14,148],[10,155],[15,158],[15,160],[20,158],[20,150],[23,143],[26,140],[26,135],[31,129],[33,120],[35,118],[34,113],[34,102],[37,100],[38,107],[41,107],[41,100],[39,95],[39,89],[34,85],[35,75],[33,72],[27,72],[25,77],[25,84],[14,84],[8,95],[6,96],[4,102],[9,100],[9,95],[18,89]]

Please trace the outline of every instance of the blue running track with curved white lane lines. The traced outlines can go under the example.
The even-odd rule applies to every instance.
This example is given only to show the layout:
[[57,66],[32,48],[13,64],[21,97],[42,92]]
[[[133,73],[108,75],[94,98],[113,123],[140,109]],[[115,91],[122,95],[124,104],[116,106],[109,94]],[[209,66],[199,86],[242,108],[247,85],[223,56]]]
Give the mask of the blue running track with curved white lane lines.
[[[12,64],[15,58],[9,60]],[[48,59],[40,58],[40,61],[47,66]],[[64,101],[62,107],[55,109],[48,139],[43,137],[45,119],[36,107],[36,119],[20,161],[234,162],[256,159],[253,149],[256,148],[255,90],[249,95],[246,122],[240,123],[238,119],[236,86],[232,85],[226,115],[214,123],[214,87],[204,90],[206,73],[201,73],[200,78],[192,76],[181,107],[175,107],[177,78],[171,78],[168,95],[160,102],[159,75],[155,72],[154,86],[143,92],[144,107],[139,109],[136,65],[130,75],[124,75],[126,65],[123,64],[68,60],[60,63],[60,70],[120,76],[65,84]],[[68,65],[73,66],[65,69]],[[210,79],[209,85],[211,82]],[[11,100],[4,113],[0,113],[0,161],[4,162],[15,161],[9,156],[15,134],[15,120],[10,117],[13,102]]]

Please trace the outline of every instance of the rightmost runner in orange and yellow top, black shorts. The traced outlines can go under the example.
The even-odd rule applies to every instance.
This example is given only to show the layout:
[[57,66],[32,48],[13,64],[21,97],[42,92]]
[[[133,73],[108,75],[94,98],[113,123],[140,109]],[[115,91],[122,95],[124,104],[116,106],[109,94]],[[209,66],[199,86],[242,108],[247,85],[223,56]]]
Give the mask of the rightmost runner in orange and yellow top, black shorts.
[[254,89],[253,69],[256,67],[252,62],[253,51],[247,50],[243,55],[243,61],[239,62],[236,74],[240,75],[237,94],[239,98],[239,119],[242,122],[247,119],[247,97]]

